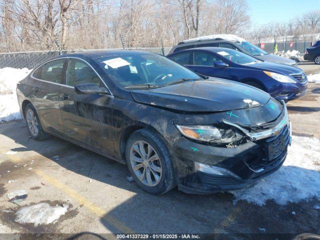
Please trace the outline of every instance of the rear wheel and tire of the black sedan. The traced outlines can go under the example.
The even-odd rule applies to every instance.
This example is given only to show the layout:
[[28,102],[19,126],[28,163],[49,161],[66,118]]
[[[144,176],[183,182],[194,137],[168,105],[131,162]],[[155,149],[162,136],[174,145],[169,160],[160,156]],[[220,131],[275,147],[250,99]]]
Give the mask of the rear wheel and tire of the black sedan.
[[50,134],[43,131],[40,119],[31,103],[24,108],[24,119],[33,139],[44,140],[50,137]]

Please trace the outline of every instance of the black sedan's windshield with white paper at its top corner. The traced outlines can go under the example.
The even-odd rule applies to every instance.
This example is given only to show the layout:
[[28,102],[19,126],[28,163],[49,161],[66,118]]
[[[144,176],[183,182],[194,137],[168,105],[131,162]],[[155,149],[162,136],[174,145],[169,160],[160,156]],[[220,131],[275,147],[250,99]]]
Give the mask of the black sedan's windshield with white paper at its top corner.
[[179,79],[201,79],[193,71],[158,54],[132,54],[130,51],[97,59],[116,84],[152,87],[167,85]]

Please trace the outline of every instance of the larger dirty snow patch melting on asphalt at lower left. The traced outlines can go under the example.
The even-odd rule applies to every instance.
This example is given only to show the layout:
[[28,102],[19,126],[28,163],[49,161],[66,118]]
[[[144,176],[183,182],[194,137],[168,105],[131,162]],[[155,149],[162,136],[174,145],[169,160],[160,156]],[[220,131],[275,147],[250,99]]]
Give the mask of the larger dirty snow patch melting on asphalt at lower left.
[[17,210],[14,221],[18,223],[34,223],[35,226],[38,224],[55,223],[61,215],[67,212],[67,209],[68,205],[50,206],[46,202],[41,202]]

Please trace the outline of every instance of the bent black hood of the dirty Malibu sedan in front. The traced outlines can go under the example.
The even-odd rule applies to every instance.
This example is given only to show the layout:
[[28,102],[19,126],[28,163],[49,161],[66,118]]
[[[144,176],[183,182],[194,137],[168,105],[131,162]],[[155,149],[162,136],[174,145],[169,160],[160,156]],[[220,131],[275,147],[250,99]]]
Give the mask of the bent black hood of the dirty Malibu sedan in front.
[[246,84],[219,78],[190,80],[150,90],[131,90],[136,102],[191,112],[216,112],[264,105],[270,95]]

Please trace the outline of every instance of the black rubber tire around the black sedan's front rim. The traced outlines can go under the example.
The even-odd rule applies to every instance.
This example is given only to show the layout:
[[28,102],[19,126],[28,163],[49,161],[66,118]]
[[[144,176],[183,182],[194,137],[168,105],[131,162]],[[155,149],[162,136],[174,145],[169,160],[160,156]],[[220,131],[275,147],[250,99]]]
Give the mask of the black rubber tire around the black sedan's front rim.
[[[153,147],[153,149],[159,157],[162,173],[159,183],[157,183],[157,185],[155,186],[147,186],[144,183],[142,183],[137,178],[132,169],[130,163],[130,149],[133,143],[135,143],[136,141],[145,141],[146,143],[151,145],[151,147]],[[175,174],[169,150],[166,147],[165,143],[161,140],[161,138],[158,137],[155,133],[147,129],[139,129],[137,131],[134,131],[129,136],[126,142],[125,158],[131,176],[133,177],[135,182],[146,192],[149,192],[151,194],[163,194],[175,187]]]

